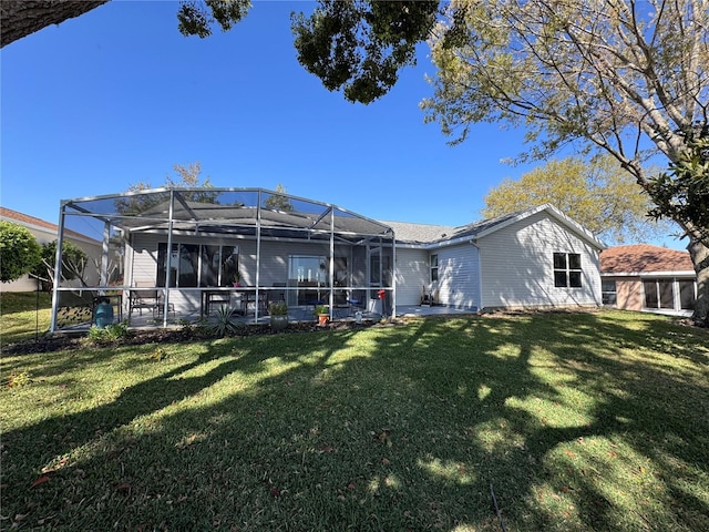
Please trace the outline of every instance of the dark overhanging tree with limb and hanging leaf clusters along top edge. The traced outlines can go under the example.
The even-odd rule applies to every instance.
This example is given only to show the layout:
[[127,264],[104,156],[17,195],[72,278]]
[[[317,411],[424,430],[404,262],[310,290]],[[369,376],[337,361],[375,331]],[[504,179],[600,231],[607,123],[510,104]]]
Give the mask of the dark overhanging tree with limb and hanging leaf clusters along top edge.
[[[3,0],[0,44],[107,1]],[[177,29],[206,38],[215,28],[230,30],[250,8],[249,0],[183,0]],[[291,14],[298,61],[328,90],[342,90],[351,102],[370,103],[395,84],[401,69],[415,64],[415,47],[429,37],[438,14],[438,0],[320,0],[310,14]]]

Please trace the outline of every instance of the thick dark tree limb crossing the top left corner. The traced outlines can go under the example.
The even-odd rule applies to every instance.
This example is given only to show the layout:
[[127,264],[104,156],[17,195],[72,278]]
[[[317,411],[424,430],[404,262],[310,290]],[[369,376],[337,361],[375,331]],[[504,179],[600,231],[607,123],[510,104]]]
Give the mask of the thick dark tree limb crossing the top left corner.
[[91,11],[109,0],[2,0],[0,2],[0,48]]

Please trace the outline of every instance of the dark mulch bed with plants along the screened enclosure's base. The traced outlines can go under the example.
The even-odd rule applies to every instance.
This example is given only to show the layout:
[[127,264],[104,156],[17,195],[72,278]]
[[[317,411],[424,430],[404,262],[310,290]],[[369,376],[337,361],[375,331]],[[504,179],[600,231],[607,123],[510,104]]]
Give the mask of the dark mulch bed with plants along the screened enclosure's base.
[[[362,324],[357,325],[353,321],[337,321],[328,324],[326,326],[319,326],[315,321],[299,321],[290,323],[288,328],[281,332],[273,332],[270,326],[265,325],[247,325],[240,327],[236,334],[230,335],[234,337],[246,336],[259,336],[259,335],[273,335],[273,334],[297,334],[308,332],[315,330],[351,330],[361,329],[372,326],[382,326],[387,324],[380,324],[379,321],[364,320]],[[88,347],[84,338],[85,334],[68,335],[55,334],[45,335],[37,340],[25,340],[17,344],[9,344],[2,346],[3,355],[28,355],[33,352],[52,352],[64,351],[72,349],[85,349]],[[198,327],[183,327],[179,329],[134,329],[129,332],[126,337],[116,341],[116,346],[141,346],[144,344],[176,344],[179,341],[193,341],[213,339],[214,336],[209,336],[204,329]],[[109,347],[109,346],[101,346]]]

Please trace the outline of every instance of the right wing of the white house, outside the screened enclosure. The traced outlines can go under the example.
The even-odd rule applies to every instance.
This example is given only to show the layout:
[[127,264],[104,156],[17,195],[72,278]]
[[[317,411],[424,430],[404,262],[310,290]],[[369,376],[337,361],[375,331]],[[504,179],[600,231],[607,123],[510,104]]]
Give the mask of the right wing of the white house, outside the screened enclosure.
[[397,303],[479,310],[599,306],[605,245],[552,205],[461,227],[386,222],[397,235]]

